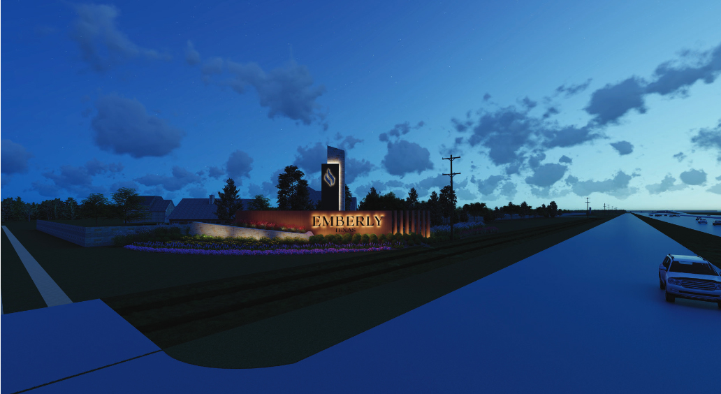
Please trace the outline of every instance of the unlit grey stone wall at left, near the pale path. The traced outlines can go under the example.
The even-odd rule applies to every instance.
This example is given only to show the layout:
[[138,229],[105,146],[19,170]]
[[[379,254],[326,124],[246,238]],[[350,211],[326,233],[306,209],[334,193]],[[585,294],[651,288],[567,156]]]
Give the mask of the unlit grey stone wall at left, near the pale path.
[[[107,227],[82,227],[65,223],[54,223],[46,220],[37,220],[35,228],[51,236],[64,239],[80,246],[112,246],[112,238],[125,231],[138,231],[143,228],[156,228],[158,225],[114,225]],[[180,225],[187,228],[189,225]]]

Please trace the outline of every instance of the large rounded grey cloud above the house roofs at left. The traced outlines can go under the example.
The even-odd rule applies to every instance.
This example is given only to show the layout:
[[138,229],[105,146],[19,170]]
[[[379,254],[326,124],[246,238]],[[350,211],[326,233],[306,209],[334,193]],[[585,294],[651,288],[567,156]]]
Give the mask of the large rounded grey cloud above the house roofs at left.
[[92,119],[94,143],[103,151],[134,158],[165,156],[180,146],[185,132],[158,117],[146,113],[138,100],[116,94],[100,97]]

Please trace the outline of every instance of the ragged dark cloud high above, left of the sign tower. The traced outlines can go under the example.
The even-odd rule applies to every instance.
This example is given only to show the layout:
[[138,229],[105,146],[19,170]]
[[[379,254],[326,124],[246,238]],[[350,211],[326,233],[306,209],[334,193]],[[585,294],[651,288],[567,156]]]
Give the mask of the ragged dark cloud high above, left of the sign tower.
[[[260,105],[268,108],[268,117],[288,117],[304,125],[322,122],[325,115],[318,112],[316,99],[325,93],[325,86],[313,87],[313,77],[306,66],[294,61],[283,68],[265,72],[256,63],[235,63],[226,61],[228,71],[235,79],[222,84],[242,94],[248,85],[255,87]],[[324,124],[327,129],[327,124]]]

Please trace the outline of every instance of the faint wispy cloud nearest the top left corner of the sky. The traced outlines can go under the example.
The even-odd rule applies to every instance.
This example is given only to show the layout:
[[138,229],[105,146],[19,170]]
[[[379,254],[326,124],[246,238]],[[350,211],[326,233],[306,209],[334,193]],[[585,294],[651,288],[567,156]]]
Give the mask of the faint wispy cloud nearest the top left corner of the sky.
[[[83,61],[95,71],[107,71],[138,56],[149,59],[162,57],[156,50],[134,44],[115,27],[115,17],[120,14],[115,6],[76,4],[74,8],[78,19],[71,28],[70,37],[80,46]],[[168,58],[167,55],[163,57]]]

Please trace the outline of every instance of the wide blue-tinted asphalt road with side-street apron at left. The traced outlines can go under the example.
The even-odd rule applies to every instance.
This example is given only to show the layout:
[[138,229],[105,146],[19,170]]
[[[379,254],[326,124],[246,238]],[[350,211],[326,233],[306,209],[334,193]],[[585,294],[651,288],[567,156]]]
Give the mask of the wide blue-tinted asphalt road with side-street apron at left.
[[712,393],[721,310],[665,302],[668,253],[690,251],[622,215],[301,362],[254,370],[156,352],[99,300],[12,313],[1,390],[76,375],[30,393]]

